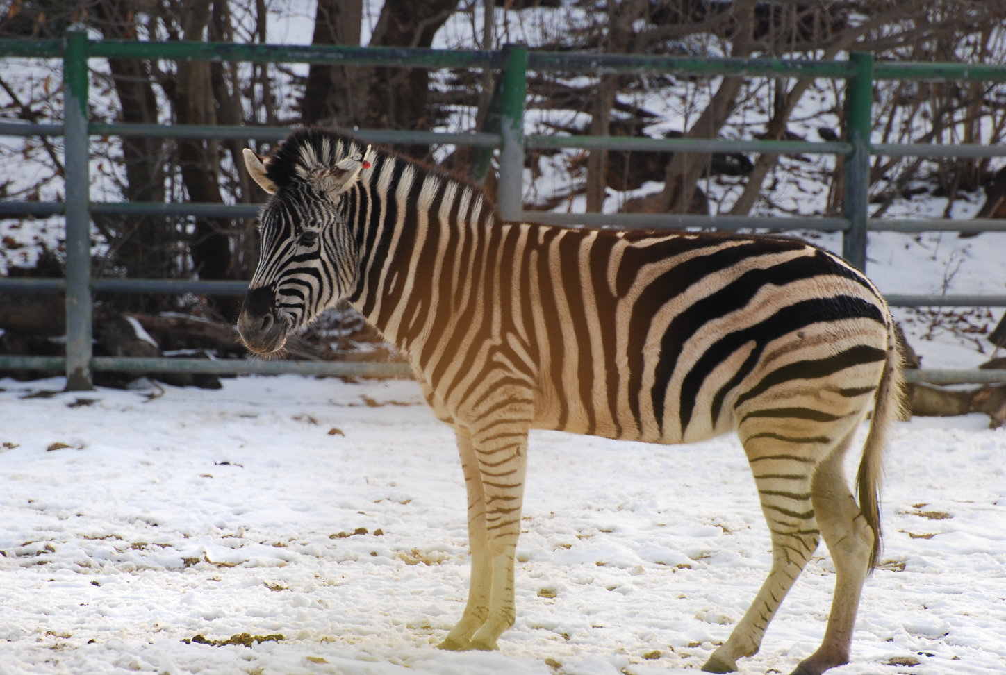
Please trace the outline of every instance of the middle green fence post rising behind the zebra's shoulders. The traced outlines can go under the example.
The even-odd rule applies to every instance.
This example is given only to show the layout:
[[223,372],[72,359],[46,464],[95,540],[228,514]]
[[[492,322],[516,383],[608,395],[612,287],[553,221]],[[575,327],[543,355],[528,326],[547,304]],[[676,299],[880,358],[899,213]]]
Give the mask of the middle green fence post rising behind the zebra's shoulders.
[[504,220],[519,220],[524,191],[524,97],[527,94],[527,47],[507,45],[503,71],[500,134],[500,179],[497,202]]

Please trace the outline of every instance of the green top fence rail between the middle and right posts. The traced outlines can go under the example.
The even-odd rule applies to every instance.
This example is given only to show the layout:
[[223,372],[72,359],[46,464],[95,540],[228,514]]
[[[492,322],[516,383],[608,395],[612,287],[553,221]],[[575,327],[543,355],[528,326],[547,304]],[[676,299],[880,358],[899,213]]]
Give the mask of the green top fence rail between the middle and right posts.
[[576,74],[783,75],[842,78],[853,74],[849,61],[783,60],[779,58],[711,58],[705,56],[648,56],[637,54],[577,54],[531,51],[528,70],[556,70]]

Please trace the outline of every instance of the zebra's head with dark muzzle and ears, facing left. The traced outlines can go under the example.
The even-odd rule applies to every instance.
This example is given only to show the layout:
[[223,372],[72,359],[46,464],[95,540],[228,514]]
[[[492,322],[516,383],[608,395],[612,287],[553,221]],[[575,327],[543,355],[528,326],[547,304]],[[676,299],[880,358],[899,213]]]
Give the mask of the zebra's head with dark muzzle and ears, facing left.
[[252,351],[283,347],[347,294],[358,251],[348,221],[349,195],[373,158],[349,139],[302,130],[263,161],[244,150],[248,174],[272,196],[260,215],[259,267],[237,329]]

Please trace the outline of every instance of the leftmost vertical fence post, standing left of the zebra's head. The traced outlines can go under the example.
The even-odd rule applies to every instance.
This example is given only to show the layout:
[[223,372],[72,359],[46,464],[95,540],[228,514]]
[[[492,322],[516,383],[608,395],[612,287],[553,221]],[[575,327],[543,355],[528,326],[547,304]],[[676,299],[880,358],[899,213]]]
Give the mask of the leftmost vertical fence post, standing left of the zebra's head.
[[88,34],[63,43],[63,161],[66,181],[66,390],[91,389],[91,204]]

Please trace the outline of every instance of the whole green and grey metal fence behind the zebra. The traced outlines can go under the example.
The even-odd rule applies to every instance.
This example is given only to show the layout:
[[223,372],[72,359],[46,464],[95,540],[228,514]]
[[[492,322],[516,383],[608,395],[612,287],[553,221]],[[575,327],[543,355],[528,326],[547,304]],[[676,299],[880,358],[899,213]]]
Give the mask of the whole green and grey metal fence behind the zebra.
[[[1001,157],[1006,146],[870,144],[873,81],[876,79],[1006,80],[1006,65],[966,63],[874,62],[871,54],[852,53],[848,60],[702,58],[647,55],[605,55],[529,51],[509,46],[501,51],[291,46],[214,42],[139,42],[90,40],[83,32],[68,32],[62,40],[0,40],[0,57],[61,58],[64,79],[63,124],[0,124],[0,136],[63,136],[65,147],[63,202],[0,201],[0,217],[63,215],[66,222],[65,279],[0,278],[0,290],[62,291],[66,297],[66,356],[0,356],[0,368],[65,371],[67,389],[91,388],[93,370],[201,373],[301,373],[310,375],[407,375],[402,363],[314,361],[207,361],[168,358],[94,357],[92,298],[95,292],[196,293],[242,295],[244,282],[149,279],[93,279],[91,214],[195,215],[254,217],[254,205],[199,203],[92,202],[89,197],[91,136],[194,139],[258,139],[276,141],[290,129],[279,127],[160,126],[90,124],[88,119],[90,58],[141,58],[254,62],[336,63],[426,68],[493,68],[502,71],[500,126],[495,133],[447,134],[360,130],[373,143],[463,145],[499,149],[498,207],[509,220],[594,227],[715,227],[774,230],[840,230],[843,256],[860,269],[866,266],[867,231],[929,230],[1006,231],[997,219],[948,220],[870,218],[867,210],[869,157]],[[526,73],[557,71],[593,74],[673,73],[678,75],[738,75],[824,77],[846,80],[844,141],[725,141],[717,139],[646,139],[605,136],[537,136],[524,134]],[[522,210],[524,153],[533,148],[581,148],[649,152],[754,152],[781,155],[830,154],[845,157],[845,204],[842,217],[708,216],[673,213],[546,213]],[[891,305],[1006,307],[1006,296],[888,296]],[[914,370],[909,381],[933,383],[1006,382],[1006,370]]]

